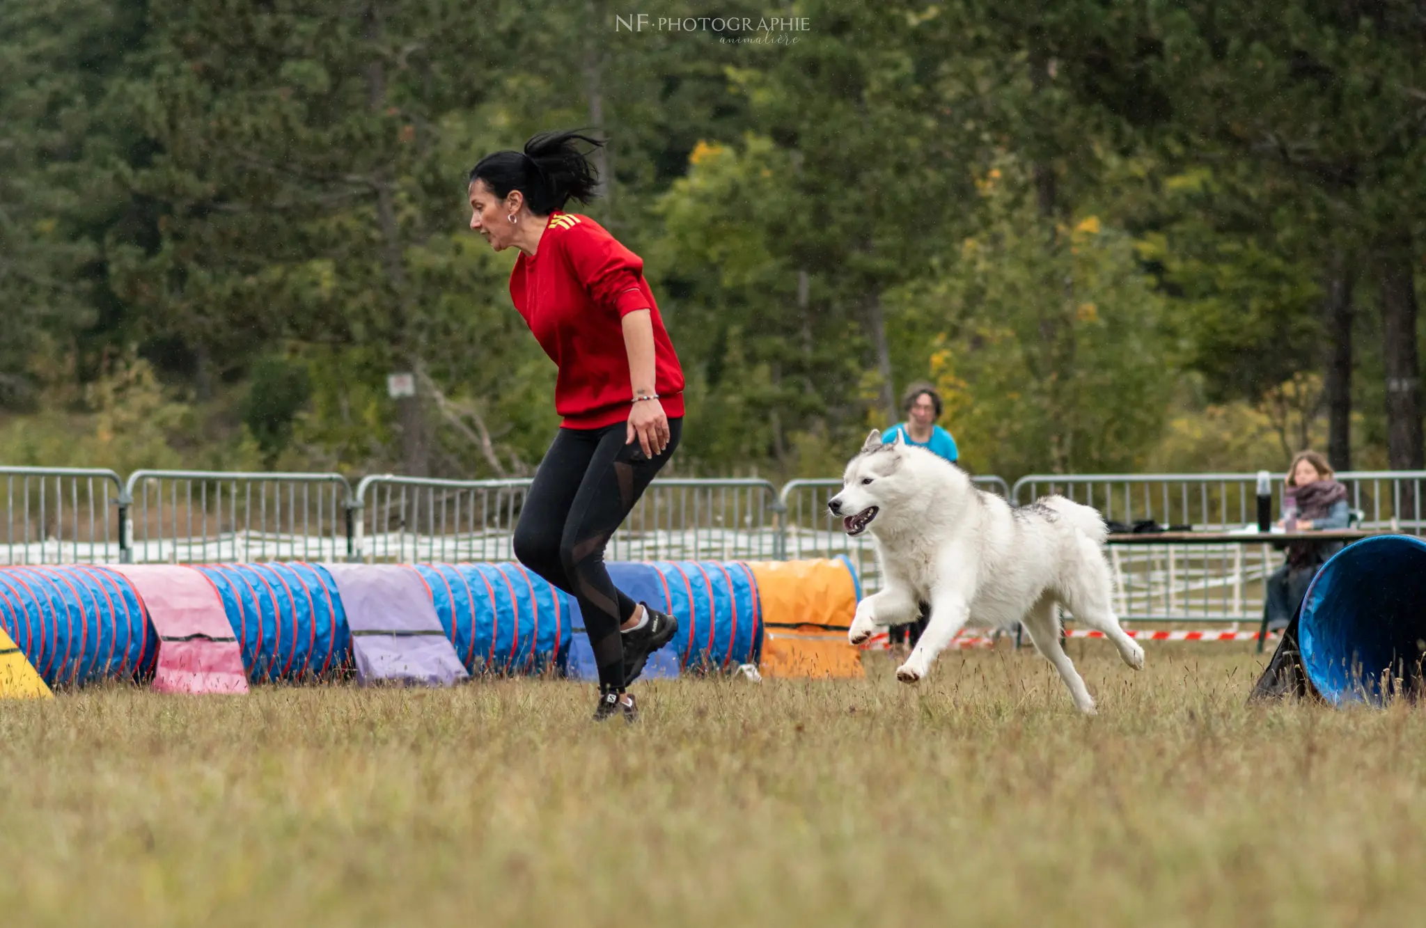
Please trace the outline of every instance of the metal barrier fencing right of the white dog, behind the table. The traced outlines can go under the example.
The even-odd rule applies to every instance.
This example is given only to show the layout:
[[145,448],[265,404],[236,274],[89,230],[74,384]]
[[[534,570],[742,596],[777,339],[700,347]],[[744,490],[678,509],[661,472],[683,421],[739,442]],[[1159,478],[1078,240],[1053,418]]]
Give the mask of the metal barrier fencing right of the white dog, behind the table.
[[[1282,510],[1285,473],[1269,475],[1273,519]],[[1422,535],[1426,472],[1338,473],[1346,485],[1353,527]],[[1134,525],[1231,532],[1253,525],[1255,473],[1031,475],[1015,482],[1017,505],[1061,493],[1105,519]],[[1145,545],[1109,547],[1121,619],[1258,622],[1268,577],[1283,563],[1272,545]]]

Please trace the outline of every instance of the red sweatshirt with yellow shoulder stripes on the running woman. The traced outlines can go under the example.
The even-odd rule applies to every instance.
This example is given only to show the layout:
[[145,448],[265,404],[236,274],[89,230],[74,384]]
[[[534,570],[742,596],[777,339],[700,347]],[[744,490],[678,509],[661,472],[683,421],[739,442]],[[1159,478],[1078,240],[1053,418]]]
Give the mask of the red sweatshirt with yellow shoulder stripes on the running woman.
[[555,411],[569,429],[599,429],[629,419],[633,385],[622,321],[649,309],[655,392],[670,418],[683,415],[683,369],[643,279],[643,258],[588,215],[555,211],[511,274],[511,299],[535,341],[559,368]]

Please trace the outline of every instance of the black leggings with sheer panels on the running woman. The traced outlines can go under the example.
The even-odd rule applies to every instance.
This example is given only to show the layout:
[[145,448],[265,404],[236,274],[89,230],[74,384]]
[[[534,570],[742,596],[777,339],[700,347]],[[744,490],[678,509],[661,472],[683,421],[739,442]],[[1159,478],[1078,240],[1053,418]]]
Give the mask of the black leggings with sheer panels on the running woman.
[[635,612],[609,579],[605,545],[679,446],[682,426],[683,419],[669,419],[669,445],[653,458],[645,458],[637,439],[625,445],[626,422],[562,428],[515,526],[515,557],[579,600],[602,687],[623,689],[619,626]]

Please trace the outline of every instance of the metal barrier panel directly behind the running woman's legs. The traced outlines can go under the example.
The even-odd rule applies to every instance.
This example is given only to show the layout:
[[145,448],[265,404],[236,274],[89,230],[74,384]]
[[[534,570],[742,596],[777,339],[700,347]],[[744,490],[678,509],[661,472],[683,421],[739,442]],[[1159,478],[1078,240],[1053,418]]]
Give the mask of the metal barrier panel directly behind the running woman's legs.
[[[354,559],[513,560],[530,480],[394,475],[356,485]],[[767,480],[655,480],[606,549],[610,560],[783,557],[777,488]]]

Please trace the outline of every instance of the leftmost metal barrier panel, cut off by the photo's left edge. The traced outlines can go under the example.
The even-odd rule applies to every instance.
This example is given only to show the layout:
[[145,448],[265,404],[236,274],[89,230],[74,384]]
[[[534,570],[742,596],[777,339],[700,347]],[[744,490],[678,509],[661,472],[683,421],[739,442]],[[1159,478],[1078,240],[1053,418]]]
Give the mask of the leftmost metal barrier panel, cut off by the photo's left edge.
[[124,485],[113,470],[0,468],[4,537],[0,564],[118,560]]

